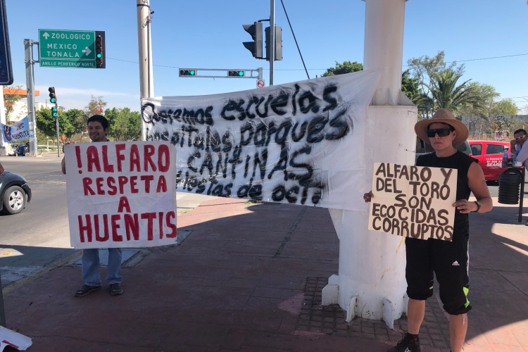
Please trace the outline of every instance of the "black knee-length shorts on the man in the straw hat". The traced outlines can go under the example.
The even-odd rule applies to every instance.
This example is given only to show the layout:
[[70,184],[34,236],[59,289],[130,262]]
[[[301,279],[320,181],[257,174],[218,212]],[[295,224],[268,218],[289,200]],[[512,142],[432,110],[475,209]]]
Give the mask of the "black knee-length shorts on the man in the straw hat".
[[440,285],[440,299],[444,303],[444,310],[451,315],[469,312],[469,239],[469,236],[454,237],[453,241],[407,237],[407,296],[419,301],[431,297],[434,272]]

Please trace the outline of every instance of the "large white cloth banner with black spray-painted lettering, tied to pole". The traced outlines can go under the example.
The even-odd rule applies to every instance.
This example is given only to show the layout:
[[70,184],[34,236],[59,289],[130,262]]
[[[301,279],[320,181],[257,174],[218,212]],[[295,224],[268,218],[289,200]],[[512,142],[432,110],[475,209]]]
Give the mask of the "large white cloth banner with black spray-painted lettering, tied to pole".
[[[177,191],[359,210],[379,73],[142,99],[146,140],[177,149]],[[364,189],[364,188],[363,188]]]

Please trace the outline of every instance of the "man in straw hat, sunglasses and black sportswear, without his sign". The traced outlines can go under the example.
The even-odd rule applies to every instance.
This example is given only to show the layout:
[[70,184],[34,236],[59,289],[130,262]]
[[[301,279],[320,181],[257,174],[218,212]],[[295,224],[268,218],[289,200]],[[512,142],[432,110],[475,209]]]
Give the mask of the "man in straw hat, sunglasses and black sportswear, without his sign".
[[[416,161],[417,166],[458,170],[455,223],[452,241],[406,238],[406,279],[408,303],[408,332],[389,352],[419,352],[418,332],[425,315],[425,300],[433,295],[434,274],[440,285],[440,299],[450,315],[451,351],[461,352],[467,332],[467,312],[470,311],[469,291],[469,213],[486,213],[493,208],[484,172],[477,159],[457,151],[469,135],[467,127],[456,120],[451,111],[439,109],[429,120],[415,125],[420,139],[434,149]],[[477,201],[469,201],[473,193]],[[370,202],[372,191],[363,199]]]

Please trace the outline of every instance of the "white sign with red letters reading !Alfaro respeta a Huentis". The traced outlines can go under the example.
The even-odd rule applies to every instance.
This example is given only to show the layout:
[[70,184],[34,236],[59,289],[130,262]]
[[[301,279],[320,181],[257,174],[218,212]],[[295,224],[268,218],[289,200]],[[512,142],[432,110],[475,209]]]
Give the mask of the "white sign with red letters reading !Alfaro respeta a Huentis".
[[71,245],[89,249],[175,244],[175,157],[169,142],[66,145]]

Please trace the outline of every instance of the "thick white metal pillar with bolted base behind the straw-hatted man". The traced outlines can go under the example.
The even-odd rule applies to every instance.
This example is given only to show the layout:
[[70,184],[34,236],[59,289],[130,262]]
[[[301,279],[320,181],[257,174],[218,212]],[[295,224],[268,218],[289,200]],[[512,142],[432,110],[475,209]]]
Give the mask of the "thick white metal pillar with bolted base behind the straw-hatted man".
[[[363,65],[382,73],[365,130],[363,165],[369,182],[376,162],[415,163],[417,108],[401,92],[405,3],[366,0]],[[339,237],[339,275],[329,278],[323,304],[338,303],[347,321],[356,316],[384,320],[393,328],[407,310],[405,239],[367,230],[367,206],[329,211]]]

